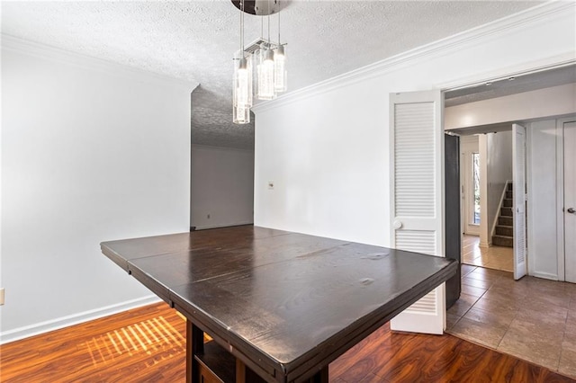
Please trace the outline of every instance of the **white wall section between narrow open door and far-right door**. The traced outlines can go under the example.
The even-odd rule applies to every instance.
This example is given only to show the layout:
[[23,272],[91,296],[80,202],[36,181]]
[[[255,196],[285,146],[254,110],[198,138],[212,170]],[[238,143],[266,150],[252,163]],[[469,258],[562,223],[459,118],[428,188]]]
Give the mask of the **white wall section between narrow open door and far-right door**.
[[552,280],[559,279],[556,137],[556,120],[532,122],[527,126],[528,273]]

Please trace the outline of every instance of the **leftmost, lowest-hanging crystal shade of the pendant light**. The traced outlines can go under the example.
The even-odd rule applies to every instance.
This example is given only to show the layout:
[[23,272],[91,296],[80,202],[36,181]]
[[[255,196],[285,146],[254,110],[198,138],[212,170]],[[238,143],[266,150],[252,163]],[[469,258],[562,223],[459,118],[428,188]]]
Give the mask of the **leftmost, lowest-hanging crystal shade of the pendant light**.
[[252,106],[252,67],[250,60],[246,58],[238,58],[234,61],[232,118],[234,123],[247,124],[250,122],[250,107]]

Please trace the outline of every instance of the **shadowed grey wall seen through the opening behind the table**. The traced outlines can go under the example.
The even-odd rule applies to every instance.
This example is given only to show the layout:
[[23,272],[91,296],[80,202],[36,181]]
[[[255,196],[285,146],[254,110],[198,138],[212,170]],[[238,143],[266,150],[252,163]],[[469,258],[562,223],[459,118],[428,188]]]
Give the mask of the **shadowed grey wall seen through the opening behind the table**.
[[254,151],[193,145],[191,209],[197,229],[253,223]]

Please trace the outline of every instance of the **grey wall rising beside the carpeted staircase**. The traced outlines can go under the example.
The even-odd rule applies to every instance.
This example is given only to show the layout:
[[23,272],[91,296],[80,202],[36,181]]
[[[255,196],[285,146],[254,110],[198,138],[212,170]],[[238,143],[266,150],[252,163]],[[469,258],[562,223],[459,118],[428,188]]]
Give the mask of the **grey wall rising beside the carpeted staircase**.
[[489,242],[491,242],[491,233],[494,224],[500,213],[499,206],[502,198],[502,192],[506,187],[506,182],[512,180],[512,131],[500,131],[499,133],[489,133],[487,138],[487,156],[486,156],[486,181],[487,191],[485,194],[487,200],[488,218],[487,229]]

